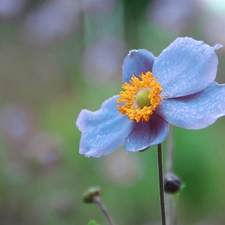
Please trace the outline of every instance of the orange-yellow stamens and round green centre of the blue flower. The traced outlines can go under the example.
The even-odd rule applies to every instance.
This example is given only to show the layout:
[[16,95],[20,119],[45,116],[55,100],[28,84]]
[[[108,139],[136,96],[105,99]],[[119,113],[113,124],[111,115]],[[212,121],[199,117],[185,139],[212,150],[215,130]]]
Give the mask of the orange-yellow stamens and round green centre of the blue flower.
[[132,76],[130,83],[122,85],[124,91],[117,99],[118,110],[127,114],[130,120],[136,122],[149,121],[154,110],[162,101],[162,87],[151,72],[142,73],[140,78]]

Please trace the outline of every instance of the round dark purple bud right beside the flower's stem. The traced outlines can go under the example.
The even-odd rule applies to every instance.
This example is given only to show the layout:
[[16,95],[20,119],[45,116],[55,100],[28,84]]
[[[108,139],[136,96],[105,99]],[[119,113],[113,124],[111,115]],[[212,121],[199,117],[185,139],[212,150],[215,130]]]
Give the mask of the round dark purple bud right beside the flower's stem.
[[164,177],[164,191],[168,194],[178,193],[180,191],[181,184],[181,179],[173,173],[168,173]]

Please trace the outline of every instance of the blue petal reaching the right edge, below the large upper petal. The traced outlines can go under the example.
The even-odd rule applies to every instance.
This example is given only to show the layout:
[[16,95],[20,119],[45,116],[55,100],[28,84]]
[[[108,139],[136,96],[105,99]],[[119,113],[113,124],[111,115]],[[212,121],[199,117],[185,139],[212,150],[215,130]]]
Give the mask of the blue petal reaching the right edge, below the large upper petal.
[[156,112],[178,127],[205,128],[225,115],[225,84],[213,82],[200,93],[164,100]]

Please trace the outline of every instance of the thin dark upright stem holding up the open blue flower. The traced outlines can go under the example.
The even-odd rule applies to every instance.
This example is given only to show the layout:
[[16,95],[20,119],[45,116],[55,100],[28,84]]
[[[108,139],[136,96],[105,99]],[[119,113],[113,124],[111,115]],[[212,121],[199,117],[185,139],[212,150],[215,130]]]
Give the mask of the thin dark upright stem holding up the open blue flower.
[[157,145],[157,152],[158,152],[158,177],[159,177],[159,196],[160,196],[160,208],[161,208],[161,221],[162,221],[162,225],[166,225],[164,189],[163,189],[162,144]]

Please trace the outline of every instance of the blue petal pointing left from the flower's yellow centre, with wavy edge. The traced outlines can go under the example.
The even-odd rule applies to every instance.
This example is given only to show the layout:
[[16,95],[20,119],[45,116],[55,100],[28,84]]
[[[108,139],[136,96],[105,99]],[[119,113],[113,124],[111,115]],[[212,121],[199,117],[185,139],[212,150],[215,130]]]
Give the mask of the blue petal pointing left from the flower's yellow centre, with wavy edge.
[[80,154],[101,157],[117,150],[125,142],[136,123],[117,110],[114,96],[102,104],[96,112],[82,110],[76,125],[82,132]]

